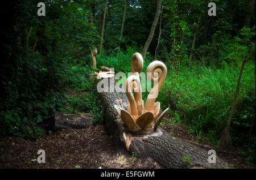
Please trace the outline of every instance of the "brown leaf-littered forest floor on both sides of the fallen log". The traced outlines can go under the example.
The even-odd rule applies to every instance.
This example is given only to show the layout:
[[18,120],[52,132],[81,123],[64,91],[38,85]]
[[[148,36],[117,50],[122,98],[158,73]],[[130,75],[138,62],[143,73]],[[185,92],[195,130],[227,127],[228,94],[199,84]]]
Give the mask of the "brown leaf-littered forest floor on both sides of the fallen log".
[[[77,117],[77,116],[76,116]],[[213,144],[197,140],[184,125],[162,123],[160,125],[177,138],[195,143],[201,148],[214,149]],[[172,127],[172,128],[171,128]],[[46,163],[37,162],[38,150],[46,152]],[[234,152],[216,152],[234,168],[255,168],[246,164],[244,157]],[[81,129],[64,129],[44,135],[35,141],[16,137],[0,139],[0,168],[162,168],[151,158],[137,158],[124,147],[113,145],[112,136],[105,125]]]

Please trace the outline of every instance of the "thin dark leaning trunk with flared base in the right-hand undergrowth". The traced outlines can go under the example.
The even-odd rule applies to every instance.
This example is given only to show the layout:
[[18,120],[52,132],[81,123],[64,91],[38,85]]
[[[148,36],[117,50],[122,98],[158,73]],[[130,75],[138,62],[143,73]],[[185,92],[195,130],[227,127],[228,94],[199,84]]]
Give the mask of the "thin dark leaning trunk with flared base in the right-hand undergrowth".
[[233,115],[234,109],[236,108],[237,95],[238,95],[238,91],[239,91],[239,85],[240,85],[240,80],[241,80],[241,77],[242,77],[243,67],[245,66],[245,63],[246,63],[247,59],[250,57],[254,48],[255,48],[255,45],[251,48],[250,54],[247,55],[247,57],[242,62],[241,70],[240,70],[240,73],[239,73],[239,76],[238,76],[238,81],[237,81],[237,88],[236,88],[236,92],[234,93],[234,99],[233,99],[233,102],[232,102],[228,122],[227,122],[226,127],[224,128],[224,130],[221,132],[221,138],[220,138],[220,142],[219,142],[219,148],[221,150],[232,148],[232,142],[231,142],[230,135],[229,135],[229,127],[230,127],[230,123],[232,121],[232,115]]

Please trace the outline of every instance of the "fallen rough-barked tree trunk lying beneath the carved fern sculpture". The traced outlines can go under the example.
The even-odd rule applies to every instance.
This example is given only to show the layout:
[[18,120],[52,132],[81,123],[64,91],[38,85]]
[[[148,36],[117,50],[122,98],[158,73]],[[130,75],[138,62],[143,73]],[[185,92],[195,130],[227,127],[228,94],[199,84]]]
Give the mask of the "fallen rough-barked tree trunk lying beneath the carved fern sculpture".
[[[164,168],[232,168],[228,163],[216,156],[216,163],[208,162],[208,152],[179,138],[175,138],[162,128],[156,131],[131,134],[115,112],[115,100],[122,99],[128,103],[121,87],[109,87],[108,92],[100,93],[104,110],[106,130],[113,136],[115,144],[121,144],[137,157],[151,157]],[[118,90],[118,91],[117,91]],[[120,92],[122,91],[122,92]]]

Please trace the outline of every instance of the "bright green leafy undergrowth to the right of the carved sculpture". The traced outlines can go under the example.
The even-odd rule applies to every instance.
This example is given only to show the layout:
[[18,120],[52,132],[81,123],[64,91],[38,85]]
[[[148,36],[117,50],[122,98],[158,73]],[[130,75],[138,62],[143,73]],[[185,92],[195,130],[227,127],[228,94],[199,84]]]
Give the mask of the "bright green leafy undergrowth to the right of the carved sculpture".
[[[168,122],[188,126],[191,134],[205,137],[216,147],[226,126],[240,68],[193,66],[179,74],[170,71],[159,92],[161,108],[170,107]],[[234,147],[248,163],[255,162],[255,65],[242,74],[236,110],[230,125]]]

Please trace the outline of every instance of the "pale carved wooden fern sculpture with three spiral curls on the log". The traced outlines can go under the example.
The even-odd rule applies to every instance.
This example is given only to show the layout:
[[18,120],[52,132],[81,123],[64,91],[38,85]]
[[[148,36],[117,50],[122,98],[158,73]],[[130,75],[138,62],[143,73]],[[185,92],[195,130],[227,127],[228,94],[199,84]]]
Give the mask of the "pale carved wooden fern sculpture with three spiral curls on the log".
[[[142,68],[142,55],[139,53],[133,54],[133,57],[131,58],[131,72],[133,72],[133,75],[126,79],[126,96],[129,103],[125,107],[122,100],[119,99],[116,101],[117,105],[114,105],[115,110],[130,131],[153,128],[154,118],[159,114],[160,110],[160,102],[155,102],[155,100],[167,74],[166,65],[160,61],[154,61],[148,65],[147,72],[151,74],[150,79],[148,80],[150,80],[150,82],[156,82],[157,80],[157,83],[148,94],[144,105],[144,101],[142,100],[141,82],[139,79],[139,72],[142,71]],[[154,74],[154,72],[156,73]],[[160,121],[168,109],[169,108],[164,110],[158,119],[156,119],[154,130],[159,126]]]

